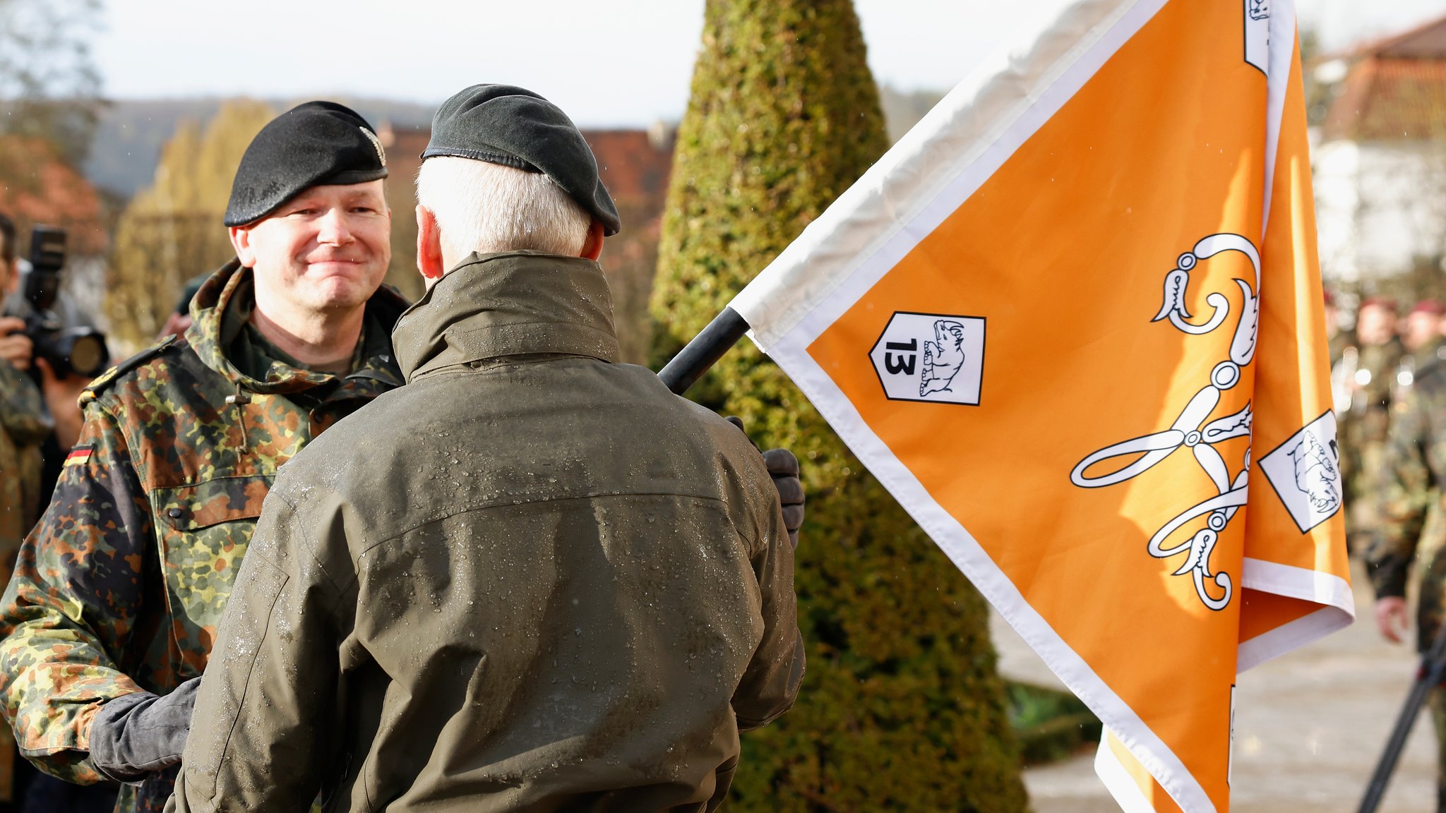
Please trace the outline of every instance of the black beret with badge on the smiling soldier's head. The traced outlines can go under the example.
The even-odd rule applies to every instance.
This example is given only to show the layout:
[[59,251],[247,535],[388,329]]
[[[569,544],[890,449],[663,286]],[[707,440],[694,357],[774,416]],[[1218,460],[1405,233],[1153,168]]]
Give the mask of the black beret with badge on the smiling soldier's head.
[[376,130],[356,110],[308,101],[272,119],[241,156],[226,204],[226,224],[246,226],[309,187],[386,178]]

